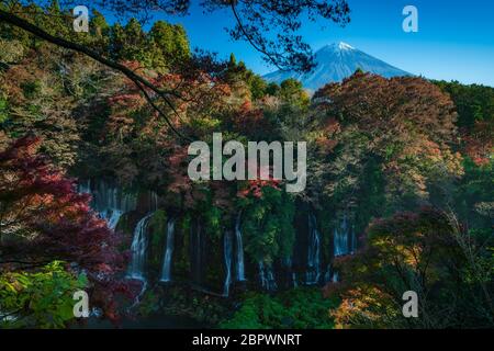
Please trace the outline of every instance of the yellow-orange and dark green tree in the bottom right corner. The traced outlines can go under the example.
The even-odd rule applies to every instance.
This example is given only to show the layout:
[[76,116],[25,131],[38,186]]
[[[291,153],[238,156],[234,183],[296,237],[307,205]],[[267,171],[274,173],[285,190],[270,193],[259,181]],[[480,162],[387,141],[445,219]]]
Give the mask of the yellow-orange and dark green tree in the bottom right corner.
[[[344,302],[339,327],[479,328],[492,325],[492,237],[486,246],[451,216],[424,207],[371,224],[366,247],[337,260]],[[405,318],[402,296],[418,295],[418,318]]]

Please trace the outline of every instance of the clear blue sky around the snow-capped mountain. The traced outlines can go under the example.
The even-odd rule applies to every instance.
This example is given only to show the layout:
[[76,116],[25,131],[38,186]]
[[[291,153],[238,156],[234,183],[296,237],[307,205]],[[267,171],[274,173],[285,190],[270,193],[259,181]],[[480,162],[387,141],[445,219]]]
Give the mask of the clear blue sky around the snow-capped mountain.
[[[233,42],[224,31],[229,12],[204,15],[199,0],[184,18],[166,18],[187,29],[193,47],[228,57],[235,53],[258,73],[274,70],[246,43]],[[327,22],[302,29],[316,50],[345,42],[414,75],[494,87],[494,1],[492,0],[348,0],[351,23],[340,29]],[[418,9],[418,33],[402,30],[403,8]],[[323,30],[322,25],[326,25]]]

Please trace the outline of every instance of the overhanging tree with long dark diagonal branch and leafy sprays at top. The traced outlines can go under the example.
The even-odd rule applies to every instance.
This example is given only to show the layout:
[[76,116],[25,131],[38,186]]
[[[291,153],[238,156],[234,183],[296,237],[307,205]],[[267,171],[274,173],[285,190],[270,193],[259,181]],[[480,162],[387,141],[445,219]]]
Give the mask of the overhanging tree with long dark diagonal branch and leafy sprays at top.
[[[36,1],[29,1],[30,4]],[[61,46],[64,48],[72,49],[83,55],[87,55],[99,63],[119,70],[138,87],[146,97],[148,103],[168,121],[161,109],[153,101],[151,97],[145,89],[149,89],[157,98],[164,100],[165,104],[172,106],[172,97],[177,97],[173,92],[161,91],[148,80],[143,79],[135,72],[128,70],[124,65],[119,64],[114,59],[106,57],[97,50],[90,49],[70,41],[66,37],[60,37],[50,34],[50,32],[38,25],[37,19],[45,15],[44,10],[52,4],[47,1],[37,1],[41,9],[34,13],[34,21],[26,20],[20,16],[16,12],[19,5],[11,7],[10,1],[0,2],[0,22],[7,23],[11,26],[22,29],[30,34],[50,42],[52,44]],[[66,0],[61,2],[61,8],[67,9],[69,5],[77,4],[74,0]],[[313,57],[307,44],[302,42],[300,35],[294,33],[301,27],[300,16],[308,14],[310,19],[315,21],[317,18],[323,18],[336,23],[346,24],[349,13],[348,4],[345,0],[327,1],[284,1],[273,2],[267,5],[263,1],[204,1],[202,4],[207,11],[215,11],[221,9],[229,9],[237,22],[235,29],[231,30],[231,35],[234,39],[244,38],[248,41],[257,50],[263,54],[265,59],[279,68],[294,69],[297,71],[308,71],[313,68]],[[146,18],[148,11],[159,9],[168,14],[184,14],[190,7],[188,0],[162,0],[162,1],[141,1],[141,2],[125,2],[119,0],[100,0],[92,2],[96,9],[105,9],[117,16],[132,16],[133,14],[142,14]],[[41,11],[40,11],[40,10]],[[263,33],[274,34],[276,39],[267,38]],[[274,32],[274,33],[273,33]],[[178,133],[171,123],[168,123],[172,132]],[[181,137],[184,137],[180,135]]]

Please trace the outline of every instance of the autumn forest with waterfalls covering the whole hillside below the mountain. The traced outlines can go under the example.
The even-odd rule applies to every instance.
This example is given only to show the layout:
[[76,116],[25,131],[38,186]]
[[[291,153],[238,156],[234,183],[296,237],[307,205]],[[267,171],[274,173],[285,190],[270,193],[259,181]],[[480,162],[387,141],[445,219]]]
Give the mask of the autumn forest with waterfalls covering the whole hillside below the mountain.
[[[57,1],[15,5],[0,2],[1,328],[494,326],[494,88],[357,70],[310,95],[181,25],[93,11],[75,33]],[[213,133],[306,141],[305,189],[192,181],[188,146]]]

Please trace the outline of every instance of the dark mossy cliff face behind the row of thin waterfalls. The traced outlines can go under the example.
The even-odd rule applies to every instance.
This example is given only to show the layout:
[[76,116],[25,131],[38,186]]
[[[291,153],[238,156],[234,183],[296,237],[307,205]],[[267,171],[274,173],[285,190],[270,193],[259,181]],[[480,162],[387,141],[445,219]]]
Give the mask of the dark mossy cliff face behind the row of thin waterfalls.
[[[237,199],[235,207],[227,211],[207,201],[199,208],[180,211],[166,203],[166,196],[153,191],[127,189],[124,192],[117,185],[98,186],[99,183],[94,181],[90,190],[100,197],[103,195],[105,206],[100,207],[106,218],[115,208],[123,212],[116,225],[123,238],[122,251],[131,250],[134,238],[138,238],[135,233],[138,223],[151,214],[145,224],[144,258],[141,254],[145,262],[142,273],[148,284],[160,283],[162,278],[171,222],[173,242],[166,281],[172,284],[192,285],[222,295],[244,288],[270,290],[265,284],[266,276],[280,290],[319,284],[329,276],[332,222],[321,219],[324,216],[311,205],[295,202],[285,193],[266,189],[262,197]],[[128,207],[121,205],[120,199],[127,199],[124,195],[135,201],[135,206],[127,212],[123,208]],[[311,235],[314,230],[317,230],[316,239]],[[238,252],[243,252],[242,260]],[[240,261],[245,274],[238,279]]]

